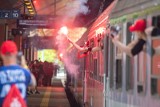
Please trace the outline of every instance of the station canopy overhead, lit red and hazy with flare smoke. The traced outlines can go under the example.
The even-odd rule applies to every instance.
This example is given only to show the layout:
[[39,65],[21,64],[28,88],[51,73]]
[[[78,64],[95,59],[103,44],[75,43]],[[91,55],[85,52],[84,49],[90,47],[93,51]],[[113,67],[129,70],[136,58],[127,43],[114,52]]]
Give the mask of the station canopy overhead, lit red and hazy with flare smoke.
[[[87,31],[103,10],[113,0],[29,0],[34,5],[36,16],[53,20],[53,29],[33,28],[30,37],[56,36],[61,26],[67,26],[70,38],[76,42]],[[1,0],[0,9],[20,9],[24,13],[25,0]],[[27,10],[27,9],[26,9]],[[26,11],[25,10],[25,11]],[[27,12],[26,12],[27,13]]]

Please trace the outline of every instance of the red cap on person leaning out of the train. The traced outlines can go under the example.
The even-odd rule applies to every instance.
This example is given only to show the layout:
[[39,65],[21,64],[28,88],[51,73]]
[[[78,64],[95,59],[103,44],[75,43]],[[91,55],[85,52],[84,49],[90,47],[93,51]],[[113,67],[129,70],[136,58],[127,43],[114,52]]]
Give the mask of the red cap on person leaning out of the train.
[[143,19],[139,19],[135,22],[135,24],[133,24],[132,26],[129,27],[129,30],[131,32],[134,31],[144,31],[146,29],[146,22]]

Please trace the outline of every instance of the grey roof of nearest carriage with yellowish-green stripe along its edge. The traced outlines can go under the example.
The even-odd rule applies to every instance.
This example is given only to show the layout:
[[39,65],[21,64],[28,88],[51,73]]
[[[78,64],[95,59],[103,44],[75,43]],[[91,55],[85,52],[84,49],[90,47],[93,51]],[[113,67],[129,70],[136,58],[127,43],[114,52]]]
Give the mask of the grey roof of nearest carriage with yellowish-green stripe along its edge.
[[160,10],[160,0],[118,0],[110,18],[112,23],[138,18]]

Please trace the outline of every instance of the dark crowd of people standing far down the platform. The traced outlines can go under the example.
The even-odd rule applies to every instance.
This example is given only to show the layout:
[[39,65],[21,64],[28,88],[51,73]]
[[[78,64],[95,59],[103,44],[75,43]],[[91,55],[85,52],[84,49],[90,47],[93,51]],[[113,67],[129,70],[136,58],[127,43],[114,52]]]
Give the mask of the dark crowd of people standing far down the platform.
[[[58,65],[54,65],[53,63],[47,62],[47,61],[27,61],[27,65],[30,69],[30,71],[33,73],[33,75],[36,78],[37,86],[51,86],[51,79],[53,76],[56,76],[57,70],[59,69]],[[35,89],[28,88],[27,94],[33,94],[33,90],[36,94],[39,94],[40,92],[37,90],[37,87]]]

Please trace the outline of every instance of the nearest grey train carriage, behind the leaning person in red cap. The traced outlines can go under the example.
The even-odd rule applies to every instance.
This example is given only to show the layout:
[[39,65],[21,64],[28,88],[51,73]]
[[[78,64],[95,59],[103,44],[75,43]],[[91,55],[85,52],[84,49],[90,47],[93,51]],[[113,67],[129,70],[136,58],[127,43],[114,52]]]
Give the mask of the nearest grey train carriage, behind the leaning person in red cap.
[[[113,25],[121,26],[121,42],[128,44],[135,39],[128,28],[137,19],[145,19],[147,27],[159,27],[160,1],[158,0],[119,0],[110,15]],[[116,47],[110,48],[113,54],[108,65],[110,91],[108,106],[113,107],[159,107],[159,56],[151,56],[151,48],[160,45],[159,37],[147,38],[147,52],[130,58]],[[111,44],[110,44],[111,45]],[[114,66],[111,66],[111,65]]]

